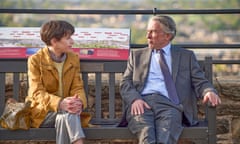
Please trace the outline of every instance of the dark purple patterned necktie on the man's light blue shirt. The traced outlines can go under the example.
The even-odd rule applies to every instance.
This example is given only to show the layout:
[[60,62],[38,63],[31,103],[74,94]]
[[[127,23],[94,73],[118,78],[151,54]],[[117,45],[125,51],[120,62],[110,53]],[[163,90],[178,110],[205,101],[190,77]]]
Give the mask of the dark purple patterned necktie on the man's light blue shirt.
[[164,82],[166,84],[166,88],[168,91],[168,96],[170,98],[170,100],[174,103],[174,104],[179,104],[179,99],[178,99],[178,95],[177,95],[177,91],[176,91],[176,87],[174,85],[172,76],[170,74],[170,71],[168,69],[166,60],[164,58],[164,51],[160,50],[160,59],[159,59],[159,63],[160,63],[160,67],[164,76]]

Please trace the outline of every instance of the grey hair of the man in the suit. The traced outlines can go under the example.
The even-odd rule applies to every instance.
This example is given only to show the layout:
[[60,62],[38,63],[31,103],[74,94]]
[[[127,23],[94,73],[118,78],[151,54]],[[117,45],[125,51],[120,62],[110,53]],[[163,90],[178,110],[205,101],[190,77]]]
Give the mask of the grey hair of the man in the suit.
[[176,23],[171,17],[159,15],[159,16],[153,16],[152,18],[150,18],[150,20],[160,22],[160,24],[162,25],[163,31],[165,33],[172,35],[171,40],[174,39],[174,37],[176,36],[177,29],[176,29]]

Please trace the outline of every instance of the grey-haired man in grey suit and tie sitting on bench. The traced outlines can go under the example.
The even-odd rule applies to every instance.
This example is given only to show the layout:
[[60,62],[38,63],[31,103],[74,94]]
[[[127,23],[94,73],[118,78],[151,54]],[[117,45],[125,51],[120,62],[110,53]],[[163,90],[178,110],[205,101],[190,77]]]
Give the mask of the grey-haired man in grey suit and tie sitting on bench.
[[[221,103],[194,53],[171,45],[175,35],[176,24],[171,17],[152,17],[147,26],[148,47],[131,50],[120,84],[128,127],[140,144],[177,143],[182,122],[197,124],[197,96],[213,106]],[[168,67],[164,70],[163,61]],[[171,81],[166,80],[166,69],[174,83],[171,90],[165,83]],[[174,91],[176,94],[171,93]]]

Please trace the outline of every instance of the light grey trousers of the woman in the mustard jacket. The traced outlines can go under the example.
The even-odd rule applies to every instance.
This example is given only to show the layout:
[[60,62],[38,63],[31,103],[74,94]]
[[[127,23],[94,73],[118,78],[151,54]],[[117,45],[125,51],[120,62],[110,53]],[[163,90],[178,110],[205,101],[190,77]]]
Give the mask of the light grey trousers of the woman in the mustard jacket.
[[71,144],[85,138],[79,115],[67,112],[50,112],[40,127],[54,127],[56,129],[56,144]]

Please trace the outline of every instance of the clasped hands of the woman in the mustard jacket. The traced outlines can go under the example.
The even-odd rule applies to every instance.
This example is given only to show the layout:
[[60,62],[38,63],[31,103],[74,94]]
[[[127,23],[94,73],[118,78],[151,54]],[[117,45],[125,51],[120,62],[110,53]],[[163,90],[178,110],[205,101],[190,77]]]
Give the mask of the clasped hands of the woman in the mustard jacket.
[[78,95],[66,97],[60,101],[59,108],[72,114],[81,114],[83,104]]

